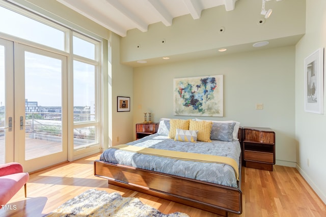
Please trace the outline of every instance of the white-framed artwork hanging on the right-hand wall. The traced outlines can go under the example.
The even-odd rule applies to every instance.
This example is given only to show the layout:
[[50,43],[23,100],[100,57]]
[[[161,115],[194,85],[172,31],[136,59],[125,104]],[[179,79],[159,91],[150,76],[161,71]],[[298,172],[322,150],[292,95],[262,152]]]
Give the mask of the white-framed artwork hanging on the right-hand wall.
[[324,49],[320,48],[305,58],[305,111],[324,112]]

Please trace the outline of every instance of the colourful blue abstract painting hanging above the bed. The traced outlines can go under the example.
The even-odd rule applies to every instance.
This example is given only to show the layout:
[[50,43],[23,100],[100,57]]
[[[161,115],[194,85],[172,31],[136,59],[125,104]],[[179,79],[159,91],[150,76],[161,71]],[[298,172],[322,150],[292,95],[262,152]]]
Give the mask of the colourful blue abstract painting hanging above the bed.
[[174,115],[223,116],[223,75],[173,79]]

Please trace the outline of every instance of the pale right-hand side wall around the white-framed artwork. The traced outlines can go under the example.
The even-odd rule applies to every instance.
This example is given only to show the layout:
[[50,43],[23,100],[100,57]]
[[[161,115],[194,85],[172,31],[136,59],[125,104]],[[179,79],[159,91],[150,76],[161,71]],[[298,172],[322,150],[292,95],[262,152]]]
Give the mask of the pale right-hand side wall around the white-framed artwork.
[[306,10],[306,35],[296,45],[295,52],[297,169],[326,203],[326,169],[323,164],[326,116],[304,111],[304,59],[318,48],[326,47],[326,1],[307,0]]

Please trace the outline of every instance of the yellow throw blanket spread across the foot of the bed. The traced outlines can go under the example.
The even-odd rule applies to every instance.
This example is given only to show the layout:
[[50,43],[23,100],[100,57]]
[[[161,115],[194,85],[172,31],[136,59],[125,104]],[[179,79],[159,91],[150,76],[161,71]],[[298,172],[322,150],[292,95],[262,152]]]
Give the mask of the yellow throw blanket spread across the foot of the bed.
[[164,149],[155,149],[155,148],[145,148],[134,145],[117,145],[112,146],[110,148],[115,148],[119,150],[132,151],[142,154],[149,154],[152,156],[172,158],[184,161],[197,161],[204,163],[220,163],[227,164],[233,167],[234,172],[236,174],[236,179],[239,180],[239,168],[237,162],[228,157],[223,156],[214,156],[211,154],[201,154],[201,153],[190,153],[190,152],[182,152],[182,151],[173,151],[173,150],[164,150]]

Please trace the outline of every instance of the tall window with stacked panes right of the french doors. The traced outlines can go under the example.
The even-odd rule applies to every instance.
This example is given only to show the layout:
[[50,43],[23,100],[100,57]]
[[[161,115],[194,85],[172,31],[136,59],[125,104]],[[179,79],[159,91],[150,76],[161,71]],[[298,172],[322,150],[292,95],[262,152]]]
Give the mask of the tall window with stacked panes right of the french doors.
[[73,36],[74,150],[97,144],[99,44],[82,35]]

